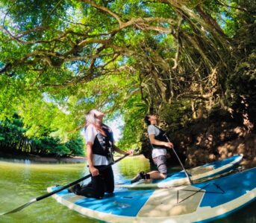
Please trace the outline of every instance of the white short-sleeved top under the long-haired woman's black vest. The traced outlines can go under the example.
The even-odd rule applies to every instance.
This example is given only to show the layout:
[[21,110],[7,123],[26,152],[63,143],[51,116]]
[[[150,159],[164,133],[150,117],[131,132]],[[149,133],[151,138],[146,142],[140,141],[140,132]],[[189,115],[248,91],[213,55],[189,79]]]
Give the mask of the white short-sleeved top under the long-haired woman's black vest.
[[[89,126],[87,126],[87,129],[85,130],[84,138],[87,141],[87,143],[94,143],[94,140],[98,133],[99,132],[96,130],[95,126],[90,124]],[[93,154],[93,166],[108,165],[110,163],[111,160],[108,160],[104,155]]]

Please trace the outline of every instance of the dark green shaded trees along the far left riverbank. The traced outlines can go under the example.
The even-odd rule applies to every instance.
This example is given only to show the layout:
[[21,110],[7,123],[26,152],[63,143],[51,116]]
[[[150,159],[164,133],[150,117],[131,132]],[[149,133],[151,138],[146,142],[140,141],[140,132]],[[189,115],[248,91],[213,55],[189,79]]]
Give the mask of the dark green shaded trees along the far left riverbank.
[[59,138],[52,138],[46,132],[43,136],[28,137],[22,119],[14,115],[0,125],[0,150],[7,153],[31,153],[34,155],[70,156],[84,155],[84,142],[81,136],[61,143]]

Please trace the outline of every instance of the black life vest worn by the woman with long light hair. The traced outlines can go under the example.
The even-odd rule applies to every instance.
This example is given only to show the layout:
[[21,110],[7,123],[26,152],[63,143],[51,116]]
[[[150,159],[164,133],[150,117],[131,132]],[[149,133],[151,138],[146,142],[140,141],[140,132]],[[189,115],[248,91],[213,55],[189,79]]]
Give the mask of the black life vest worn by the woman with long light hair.
[[111,158],[112,157],[111,143],[113,143],[113,132],[106,125],[103,125],[102,129],[106,136],[98,132],[93,142],[93,154],[104,155],[107,158]]

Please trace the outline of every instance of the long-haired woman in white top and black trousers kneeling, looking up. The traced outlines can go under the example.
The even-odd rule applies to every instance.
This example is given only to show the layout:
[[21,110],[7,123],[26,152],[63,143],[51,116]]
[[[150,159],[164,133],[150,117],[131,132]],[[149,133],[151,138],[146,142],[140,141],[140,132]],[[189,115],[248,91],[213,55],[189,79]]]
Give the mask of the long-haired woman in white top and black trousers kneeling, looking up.
[[86,114],[84,138],[87,142],[87,164],[92,177],[86,186],[75,184],[69,188],[69,192],[99,199],[105,192],[113,193],[113,170],[111,166],[106,169],[106,166],[113,162],[112,152],[116,151],[123,155],[133,152],[124,152],[114,145],[113,132],[109,126],[102,123],[103,117],[104,113],[96,109]]

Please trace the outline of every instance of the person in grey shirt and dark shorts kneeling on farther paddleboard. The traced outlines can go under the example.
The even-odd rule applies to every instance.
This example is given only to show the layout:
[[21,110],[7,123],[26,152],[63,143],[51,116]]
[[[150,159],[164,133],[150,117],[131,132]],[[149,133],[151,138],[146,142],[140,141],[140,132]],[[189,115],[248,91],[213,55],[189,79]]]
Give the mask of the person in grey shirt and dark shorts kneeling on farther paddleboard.
[[131,184],[140,181],[141,179],[163,179],[167,176],[166,149],[172,149],[173,144],[168,142],[165,132],[158,128],[157,117],[155,115],[146,115],[144,118],[148,125],[149,140],[152,144],[152,159],[154,164],[157,166],[157,170],[152,172],[140,172],[135,178],[131,180]]

